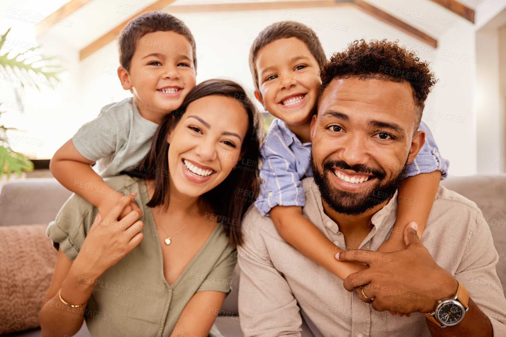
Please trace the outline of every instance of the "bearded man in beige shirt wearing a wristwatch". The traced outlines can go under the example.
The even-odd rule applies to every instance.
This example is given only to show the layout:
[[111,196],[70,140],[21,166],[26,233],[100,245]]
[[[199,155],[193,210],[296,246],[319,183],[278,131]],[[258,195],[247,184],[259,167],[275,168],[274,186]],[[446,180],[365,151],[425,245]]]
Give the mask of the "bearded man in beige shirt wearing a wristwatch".
[[[245,336],[506,336],[498,255],[473,202],[439,187],[421,243],[412,223],[399,233],[405,250],[375,252],[394,225],[405,166],[424,143],[417,129],[434,83],[427,64],[387,41],[355,41],[325,65],[303,213],[347,249],[336,258],[369,268],[343,282],[250,208],[238,248]],[[352,184],[342,173],[369,179]],[[437,319],[424,315],[433,311]]]

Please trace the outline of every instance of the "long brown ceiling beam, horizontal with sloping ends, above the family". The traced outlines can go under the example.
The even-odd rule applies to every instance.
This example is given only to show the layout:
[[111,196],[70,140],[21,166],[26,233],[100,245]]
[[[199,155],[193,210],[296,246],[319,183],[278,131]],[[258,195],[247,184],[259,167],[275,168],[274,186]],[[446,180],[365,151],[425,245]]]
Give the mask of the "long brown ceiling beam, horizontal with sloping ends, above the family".
[[[144,9],[140,13],[151,10],[161,10],[170,5],[175,0],[160,0]],[[340,7],[340,6],[353,6],[378,20],[381,20],[406,34],[415,37],[416,39],[437,47],[437,40],[428,34],[410,26],[406,22],[395,18],[394,16],[362,1],[362,0],[303,0],[303,1],[281,1],[281,2],[248,2],[248,3],[221,3],[221,4],[196,4],[196,5],[178,5],[170,6],[167,12],[174,13],[192,13],[192,12],[228,12],[228,11],[262,11],[262,10],[276,10],[276,9],[291,9],[291,8],[318,8],[318,7]],[[137,15],[139,15],[138,13]],[[121,29],[132,18],[124,21],[111,31],[107,32],[96,41],[84,47],[80,51],[80,60],[86,59],[109,42],[113,41]]]

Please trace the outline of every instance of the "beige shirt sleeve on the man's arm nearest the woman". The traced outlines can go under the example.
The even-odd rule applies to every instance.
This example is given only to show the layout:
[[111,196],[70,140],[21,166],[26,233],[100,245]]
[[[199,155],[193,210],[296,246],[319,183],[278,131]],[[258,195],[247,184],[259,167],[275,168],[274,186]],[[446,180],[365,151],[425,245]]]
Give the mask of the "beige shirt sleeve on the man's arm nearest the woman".
[[251,229],[264,228],[266,220],[271,221],[250,209],[243,221],[248,230],[244,231],[244,244],[237,249],[243,289],[239,291],[242,332],[245,337],[300,336],[302,318],[297,300],[269,258],[263,231]]

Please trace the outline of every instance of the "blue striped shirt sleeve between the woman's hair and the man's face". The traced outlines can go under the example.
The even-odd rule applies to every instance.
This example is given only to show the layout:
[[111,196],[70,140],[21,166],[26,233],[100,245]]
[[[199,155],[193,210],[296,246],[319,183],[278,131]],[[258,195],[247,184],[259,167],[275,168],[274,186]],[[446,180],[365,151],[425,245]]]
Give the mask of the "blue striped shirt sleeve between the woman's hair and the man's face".
[[[272,139],[272,137],[271,137]],[[260,151],[262,166],[260,194],[255,202],[257,210],[265,216],[271,208],[280,206],[304,206],[304,188],[296,169],[297,158],[290,151],[281,150],[282,139],[276,140],[280,149],[274,148],[273,141],[265,142]]]

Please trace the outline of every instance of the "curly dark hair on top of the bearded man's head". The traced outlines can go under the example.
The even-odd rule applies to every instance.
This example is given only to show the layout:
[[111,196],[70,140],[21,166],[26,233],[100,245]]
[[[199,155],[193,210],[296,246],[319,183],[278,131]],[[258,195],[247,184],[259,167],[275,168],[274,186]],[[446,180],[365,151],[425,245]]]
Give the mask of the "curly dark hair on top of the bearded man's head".
[[[416,129],[424,112],[425,101],[437,79],[429,64],[416,56],[413,51],[400,46],[399,41],[355,40],[345,51],[334,53],[321,71],[322,92],[336,78],[358,77],[360,79],[384,79],[407,82],[413,90],[415,106],[418,107]],[[318,100],[319,101],[319,100]]]

